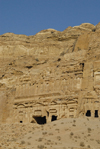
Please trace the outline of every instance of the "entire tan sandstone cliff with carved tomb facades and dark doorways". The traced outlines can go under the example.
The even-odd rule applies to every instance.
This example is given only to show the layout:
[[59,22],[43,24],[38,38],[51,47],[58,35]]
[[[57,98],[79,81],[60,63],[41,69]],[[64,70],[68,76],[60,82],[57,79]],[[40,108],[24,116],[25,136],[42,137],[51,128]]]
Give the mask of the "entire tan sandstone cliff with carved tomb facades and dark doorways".
[[0,122],[100,117],[99,24],[1,35]]

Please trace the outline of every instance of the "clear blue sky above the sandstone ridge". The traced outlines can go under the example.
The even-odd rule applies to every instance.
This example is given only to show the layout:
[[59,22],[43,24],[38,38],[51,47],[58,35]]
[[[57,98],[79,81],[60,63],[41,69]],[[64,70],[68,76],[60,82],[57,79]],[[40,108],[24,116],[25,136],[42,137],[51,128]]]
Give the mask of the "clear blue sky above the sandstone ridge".
[[0,0],[0,35],[100,22],[100,0]]

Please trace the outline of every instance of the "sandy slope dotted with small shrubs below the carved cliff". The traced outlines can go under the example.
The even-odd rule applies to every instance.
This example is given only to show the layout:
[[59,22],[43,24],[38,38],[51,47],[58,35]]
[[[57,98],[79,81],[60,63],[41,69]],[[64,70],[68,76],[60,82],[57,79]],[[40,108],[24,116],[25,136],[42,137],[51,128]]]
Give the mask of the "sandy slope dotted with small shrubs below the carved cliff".
[[100,149],[99,118],[63,118],[45,125],[0,124],[0,149]]

